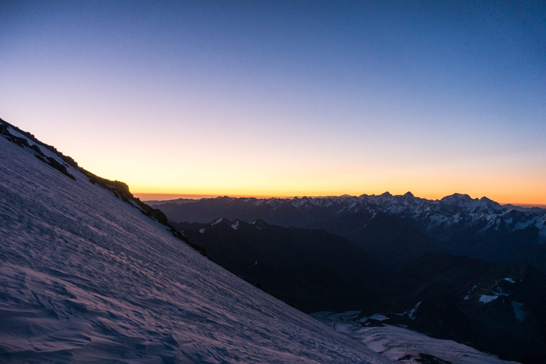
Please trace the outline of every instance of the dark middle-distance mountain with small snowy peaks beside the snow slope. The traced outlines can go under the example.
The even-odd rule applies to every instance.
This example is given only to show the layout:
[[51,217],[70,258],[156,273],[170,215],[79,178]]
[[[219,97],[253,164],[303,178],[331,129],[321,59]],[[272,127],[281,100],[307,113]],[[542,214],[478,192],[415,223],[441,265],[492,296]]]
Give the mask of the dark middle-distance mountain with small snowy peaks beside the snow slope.
[[304,312],[384,305],[373,283],[384,277],[385,268],[324,230],[225,218],[175,226],[212,261]]

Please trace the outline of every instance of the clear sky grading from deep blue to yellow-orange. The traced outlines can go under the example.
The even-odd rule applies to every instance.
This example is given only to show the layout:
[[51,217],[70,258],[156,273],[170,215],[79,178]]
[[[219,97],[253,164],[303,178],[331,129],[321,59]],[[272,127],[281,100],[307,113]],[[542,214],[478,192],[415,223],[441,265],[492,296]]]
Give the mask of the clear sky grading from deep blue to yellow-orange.
[[0,117],[134,193],[546,204],[545,3],[446,3],[2,1]]

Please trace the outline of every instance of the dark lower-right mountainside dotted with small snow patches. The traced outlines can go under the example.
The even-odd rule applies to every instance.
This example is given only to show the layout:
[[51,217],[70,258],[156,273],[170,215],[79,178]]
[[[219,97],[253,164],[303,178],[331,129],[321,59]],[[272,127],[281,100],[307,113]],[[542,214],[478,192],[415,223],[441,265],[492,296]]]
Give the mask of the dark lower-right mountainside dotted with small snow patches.
[[544,363],[546,276],[529,265],[429,253],[379,287],[395,293],[391,311],[382,312],[390,325],[503,359]]

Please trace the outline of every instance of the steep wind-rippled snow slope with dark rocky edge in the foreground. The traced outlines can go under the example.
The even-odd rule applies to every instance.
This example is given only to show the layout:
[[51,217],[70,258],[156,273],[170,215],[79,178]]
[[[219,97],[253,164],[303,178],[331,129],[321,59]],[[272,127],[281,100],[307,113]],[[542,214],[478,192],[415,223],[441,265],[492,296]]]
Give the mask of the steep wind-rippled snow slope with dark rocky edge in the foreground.
[[392,362],[213,264],[128,190],[0,124],[0,361]]

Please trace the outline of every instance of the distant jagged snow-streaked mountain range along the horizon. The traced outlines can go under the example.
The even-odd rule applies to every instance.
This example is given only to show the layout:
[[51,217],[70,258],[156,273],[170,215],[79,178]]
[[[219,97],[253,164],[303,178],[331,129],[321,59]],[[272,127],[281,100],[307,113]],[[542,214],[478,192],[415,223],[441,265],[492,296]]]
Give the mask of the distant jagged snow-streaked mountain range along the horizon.
[[[225,217],[324,229],[400,268],[439,249],[497,264],[527,263],[546,272],[546,210],[517,210],[488,198],[453,194],[440,200],[404,195],[323,198],[174,200],[153,207],[174,222]],[[396,252],[396,254],[393,254]]]

